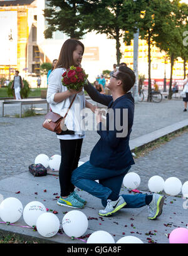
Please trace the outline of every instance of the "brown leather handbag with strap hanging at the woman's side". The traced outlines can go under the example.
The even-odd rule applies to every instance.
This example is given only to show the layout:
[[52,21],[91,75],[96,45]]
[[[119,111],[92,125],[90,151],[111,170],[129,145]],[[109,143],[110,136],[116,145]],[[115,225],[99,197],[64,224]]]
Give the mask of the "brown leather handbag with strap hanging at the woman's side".
[[[76,97],[76,94],[75,94],[75,97]],[[71,105],[73,105],[75,97],[71,101],[70,107],[68,108],[65,114],[65,117],[61,117],[61,115],[50,111],[48,112],[48,114],[45,115],[43,127],[51,132],[56,132],[57,134],[60,134],[62,131],[67,131],[67,127],[65,125],[65,118],[66,118],[66,115],[68,114],[68,111],[71,108]]]

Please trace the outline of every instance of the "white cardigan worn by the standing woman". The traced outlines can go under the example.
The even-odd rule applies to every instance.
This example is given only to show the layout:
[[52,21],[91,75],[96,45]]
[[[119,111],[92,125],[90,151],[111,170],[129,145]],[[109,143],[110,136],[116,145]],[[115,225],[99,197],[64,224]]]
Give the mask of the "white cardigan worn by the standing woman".
[[[47,102],[50,104],[51,110],[62,117],[65,116],[71,100],[74,95],[68,97],[62,102],[55,102],[54,97],[58,92],[66,92],[68,90],[62,85],[61,79],[65,72],[65,68],[56,68],[51,72],[48,77],[48,90],[47,90]],[[76,98],[71,106],[68,115],[66,115],[65,124],[68,130],[75,131],[75,134],[83,136],[85,134],[84,124],[84,109],[85,109],[85,94],[83,92],[77,93]]]

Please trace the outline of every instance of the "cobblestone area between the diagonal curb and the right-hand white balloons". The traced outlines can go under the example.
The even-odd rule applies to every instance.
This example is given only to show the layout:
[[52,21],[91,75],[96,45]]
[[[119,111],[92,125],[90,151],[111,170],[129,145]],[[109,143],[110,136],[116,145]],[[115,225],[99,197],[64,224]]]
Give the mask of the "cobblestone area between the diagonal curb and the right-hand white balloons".
[[167,179],[177,177],[182,184],[188,181],[188,132],[135,159],[130,172],[140,175],[141,190],[147,191],[148,181],[154,175]]

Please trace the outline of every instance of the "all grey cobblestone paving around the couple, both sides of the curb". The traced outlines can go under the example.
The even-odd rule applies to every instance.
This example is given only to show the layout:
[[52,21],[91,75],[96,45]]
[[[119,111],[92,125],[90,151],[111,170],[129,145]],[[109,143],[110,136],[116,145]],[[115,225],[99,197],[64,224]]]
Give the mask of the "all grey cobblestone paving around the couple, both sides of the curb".
[[[43,112],[43,114],[46,112],[46,104],[36,105],[36,108],[44,108],[40,112]],[[4,109],[5,115],[13,116],[19,113],[19,105],[17,104],[7,104]],[[147,102],[136,104],[131,139],[187,119],[188,113],[182,110],[182,100],[164,100],[160,104]],[[53,154],[60,154],[59,141],[56,139],[55,134],[43,129],[43,120],[44,115],[21,119],[8,116],[0,117],[0,179],[28,171],[29,164],[34,163],[34,159],[38,154],[47,154],[49,157],[53,156]],[[173,142],[169,142],[167,145],[175,143],[180,138],[174,139]],[[96,131],[86,131],[81,158],[90,155],[98,139],[99,136]],[[183,148],[184,145],[185,142],[184,139],[182,139],[180,146]],[[165,146],[162,146],[161,149],[157,149],[157,152],[159,151],[157,154],[155,154],[156,151],[150,152],[143,164],[142,159],[144,158],[137,160],[137,164],[132,167],[132,171],[139,172],[143,178],[143,173],[149,175],[150,173],[160,174],[162,172],[164,175],[167,174],[167,176],[169,176],[170,173],[174,173],[174,169],[177,169],[177,174],[182,174],[181,163],[179,163],[178,159],[179,154],[182,157],[181,159],[187,157],[185,146],[184,149],[179,149],[179,154],[174,154],[174,149],[175,152],[177,151],[176,144],[174,144],[174,146],[172,144],[167,153],[165,153],[165,149],[164,152],[160,152]],[[150,159],[149,157],[152,158]],[[171,164],[172,161],[176,159],[173,157],[178,157],[174,165]],[[164,160],[162,161],[162,159]],[[172,166],[174,168],[173,170]],[[186,165],[183,164],[183,166],[185,174]]]

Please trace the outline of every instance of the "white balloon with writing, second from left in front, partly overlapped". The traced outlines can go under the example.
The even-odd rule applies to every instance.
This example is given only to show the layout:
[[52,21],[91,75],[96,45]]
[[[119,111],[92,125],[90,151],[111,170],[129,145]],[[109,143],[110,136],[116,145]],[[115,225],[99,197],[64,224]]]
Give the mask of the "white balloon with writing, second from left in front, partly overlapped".
[[30,227],[36,226],[36,220],[38,217],[46,213],[46,207],[43,203],[38,201],[32,201],[24,207],[23,219]]

